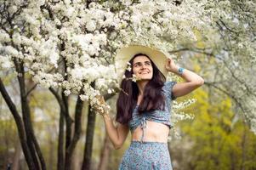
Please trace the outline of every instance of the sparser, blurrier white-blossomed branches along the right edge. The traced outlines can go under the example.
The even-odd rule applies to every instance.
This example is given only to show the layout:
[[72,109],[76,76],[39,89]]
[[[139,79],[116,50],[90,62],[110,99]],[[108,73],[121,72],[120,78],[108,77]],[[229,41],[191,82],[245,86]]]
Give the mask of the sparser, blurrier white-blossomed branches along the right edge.
[[[236,104],[235,112],[242,113],[256,133],[256,82],[253,75],[256,70],[256,3],[250,0],[208,1],[205,8],[211,11],[211,25],[215,29],[207,38],[202,37],[203,44],[190,50],[207,56],[200,59],[204,68],[202,74],[207,78],[205,84],[229,95]],[[236,118],[237,114],[234,121]]]

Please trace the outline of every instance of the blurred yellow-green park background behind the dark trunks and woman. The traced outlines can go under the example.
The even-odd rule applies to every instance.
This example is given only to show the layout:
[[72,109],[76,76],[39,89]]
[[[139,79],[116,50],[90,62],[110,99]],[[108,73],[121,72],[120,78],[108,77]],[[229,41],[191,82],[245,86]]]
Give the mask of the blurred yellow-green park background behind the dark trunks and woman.
[[[206,80],[212,77],[202,71],[202,57],[190,57],[189,54],[179,59],[179,65],[196,71]],[[203,64],[205,70],[213,64]],[[20,107],[17,82],[9,74],[4,78],[9,93]],[[117,95],[108,99],[111,116],[115,117]],[[255,169],[256,136],[249,129],[244,117],[236,112],[237,106],[232,97],[217,88],[206,84],[193,93],[177,99],[179,105],[188,99],[196,99],[191,105],[179,109],[180,115],[189,114],[193,118],[181,120],[171,130],[168,142],[171,159],[175,170],[190,169]],[[71,117],[74,116],[76,97],[70,96]],[[57,148],[59,135],[59,105],[53,94],[44,88],[37,88],[29,98],[31,120],[35,134],[40,143],[47,169],[57,169]],[[0,96],[0,169],[28,169],[20,147],[20,140],[14,118]],[[84,155],[86,130],[88,123],[88,105],[82,110],[82,133],[74,150],[71,169],[80,169]],[[179,133],[175,135],[174,133]],[[114,150],[105,135],[105,124],[100,115],[96,115],[91,169],[117,169],[124,151],[130,143],[130,135],[120,150]]]

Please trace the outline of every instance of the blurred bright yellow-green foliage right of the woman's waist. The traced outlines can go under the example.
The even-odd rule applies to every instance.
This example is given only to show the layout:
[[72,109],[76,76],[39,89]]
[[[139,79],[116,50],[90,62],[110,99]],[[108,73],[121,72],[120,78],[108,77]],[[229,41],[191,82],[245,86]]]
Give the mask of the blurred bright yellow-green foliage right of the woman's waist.
[[185,111],[195,114],[195,119],[181,122],[181,142],[189,141],[191,147],[182,150],[188,160],[180,169],[255,169],[256,136],[232,111],[231,99],[221,95],[213,99],[202,89],[192,97],[196,104]]

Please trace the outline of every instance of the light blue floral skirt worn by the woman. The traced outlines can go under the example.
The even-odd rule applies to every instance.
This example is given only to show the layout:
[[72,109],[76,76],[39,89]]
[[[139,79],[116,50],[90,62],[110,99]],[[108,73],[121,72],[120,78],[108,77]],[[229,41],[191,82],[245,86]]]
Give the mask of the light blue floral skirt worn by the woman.
[[167,143],[132,141],[119,170],[172,170]]

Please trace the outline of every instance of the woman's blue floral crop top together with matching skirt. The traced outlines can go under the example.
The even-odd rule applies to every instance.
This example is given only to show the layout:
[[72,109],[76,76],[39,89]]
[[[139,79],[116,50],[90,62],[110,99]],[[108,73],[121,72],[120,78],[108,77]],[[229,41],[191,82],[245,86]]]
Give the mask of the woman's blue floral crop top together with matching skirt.
[[172,170],[172,163],[168,151],[168,143],[145,141],[146,120],[161,122],[168,127],[173,127],[170,122],[171,101],[174,99],[172,88],[176,82],[165,82],[162,92],[166,98],[164,111],[150,111],[138,114],[138,106],[134,108],[133,117],[128,122],[130,130],[133,132],[137,127],[141,127],[142,136],[140,141],[132,141],[128,150],[122,156],[119,170]]

